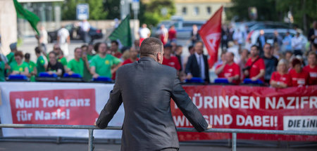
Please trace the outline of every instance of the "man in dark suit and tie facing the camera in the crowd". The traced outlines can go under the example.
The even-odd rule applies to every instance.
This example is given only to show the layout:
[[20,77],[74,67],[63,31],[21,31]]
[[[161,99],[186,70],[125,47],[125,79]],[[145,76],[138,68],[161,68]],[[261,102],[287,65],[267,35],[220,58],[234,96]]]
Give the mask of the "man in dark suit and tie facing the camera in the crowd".
[[195,46],[195,53],[190,55],[186,64],[187,79],[192,77],[200,77],[205,81],[205,84],[209,84],[209,65],[207,56],[203,54],[204,43],[198,41]]

